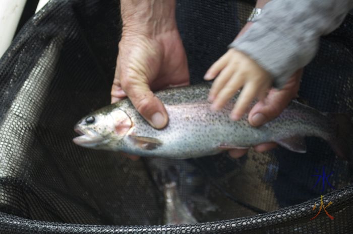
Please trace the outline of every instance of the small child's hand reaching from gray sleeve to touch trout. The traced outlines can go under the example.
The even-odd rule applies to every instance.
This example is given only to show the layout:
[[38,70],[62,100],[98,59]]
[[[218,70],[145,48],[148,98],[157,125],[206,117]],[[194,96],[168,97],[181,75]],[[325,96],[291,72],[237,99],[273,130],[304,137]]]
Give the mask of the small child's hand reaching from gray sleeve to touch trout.
[[253,59],[235,49],[229,49],[213,63],[204,79],[209,81],[215,76],[217,78],[212,84],[208,98],[212,102],[211,110],[222,109],[237,91],[244,87],[231,111],[232,120],[241,119],[254,98],[263,100],[272,85],[270,73]]

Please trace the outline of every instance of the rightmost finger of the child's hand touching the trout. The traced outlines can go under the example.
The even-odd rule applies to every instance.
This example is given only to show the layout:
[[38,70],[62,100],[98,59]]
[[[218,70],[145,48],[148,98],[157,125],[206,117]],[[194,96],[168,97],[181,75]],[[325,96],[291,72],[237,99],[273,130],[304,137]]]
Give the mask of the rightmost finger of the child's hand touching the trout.
[[258,95],[260,90],[258,83],[248,83],[244,86],[242,92],[239,95],[236,105],[234,106],[230,118],[232,120],[239,120],[248,110],[250,103]]

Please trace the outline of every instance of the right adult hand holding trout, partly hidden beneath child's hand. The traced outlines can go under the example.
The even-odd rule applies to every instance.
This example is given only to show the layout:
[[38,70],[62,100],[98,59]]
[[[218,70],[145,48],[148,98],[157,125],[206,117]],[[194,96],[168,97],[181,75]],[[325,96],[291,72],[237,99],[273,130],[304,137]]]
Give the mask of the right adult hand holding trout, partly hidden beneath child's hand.
[[[271,89],[266,99],[259,101],[251,109],[248,115],[249,123],[258,127],[280,115],[289,102],[298,96],[302,74],[303,69],[299,69],[290,77],[283,89]],[[263,152],[276,147],[276,145],[274,142],[268,142],[256,145],[254,148],[258,152]],[[233,149],[229,150],[228,153],[232,158],[240,158],[247,151],[247,149]]]

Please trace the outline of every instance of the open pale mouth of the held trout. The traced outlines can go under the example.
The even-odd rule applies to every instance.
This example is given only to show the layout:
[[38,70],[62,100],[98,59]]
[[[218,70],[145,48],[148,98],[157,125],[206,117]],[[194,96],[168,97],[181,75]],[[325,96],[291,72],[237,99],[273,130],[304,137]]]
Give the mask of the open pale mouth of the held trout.
[[86,147],[93,147],[104,140],[102,136],[100,136],[96,131],[92,129],[82,130],[79,125],[76,125],[74,130],[80,135],[73,139],[75,144]]

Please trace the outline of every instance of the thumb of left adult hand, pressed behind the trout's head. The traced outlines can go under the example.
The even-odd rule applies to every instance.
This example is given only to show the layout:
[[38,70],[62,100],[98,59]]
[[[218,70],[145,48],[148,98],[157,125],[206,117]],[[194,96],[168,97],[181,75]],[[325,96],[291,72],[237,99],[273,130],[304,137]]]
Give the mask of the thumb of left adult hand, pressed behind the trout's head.
[[137,111],[154,128],[163,128],[168,122],[168,114],[163,103],[154,96],[147,83],[141,80],[122,80],[122,89],[125,91]]

